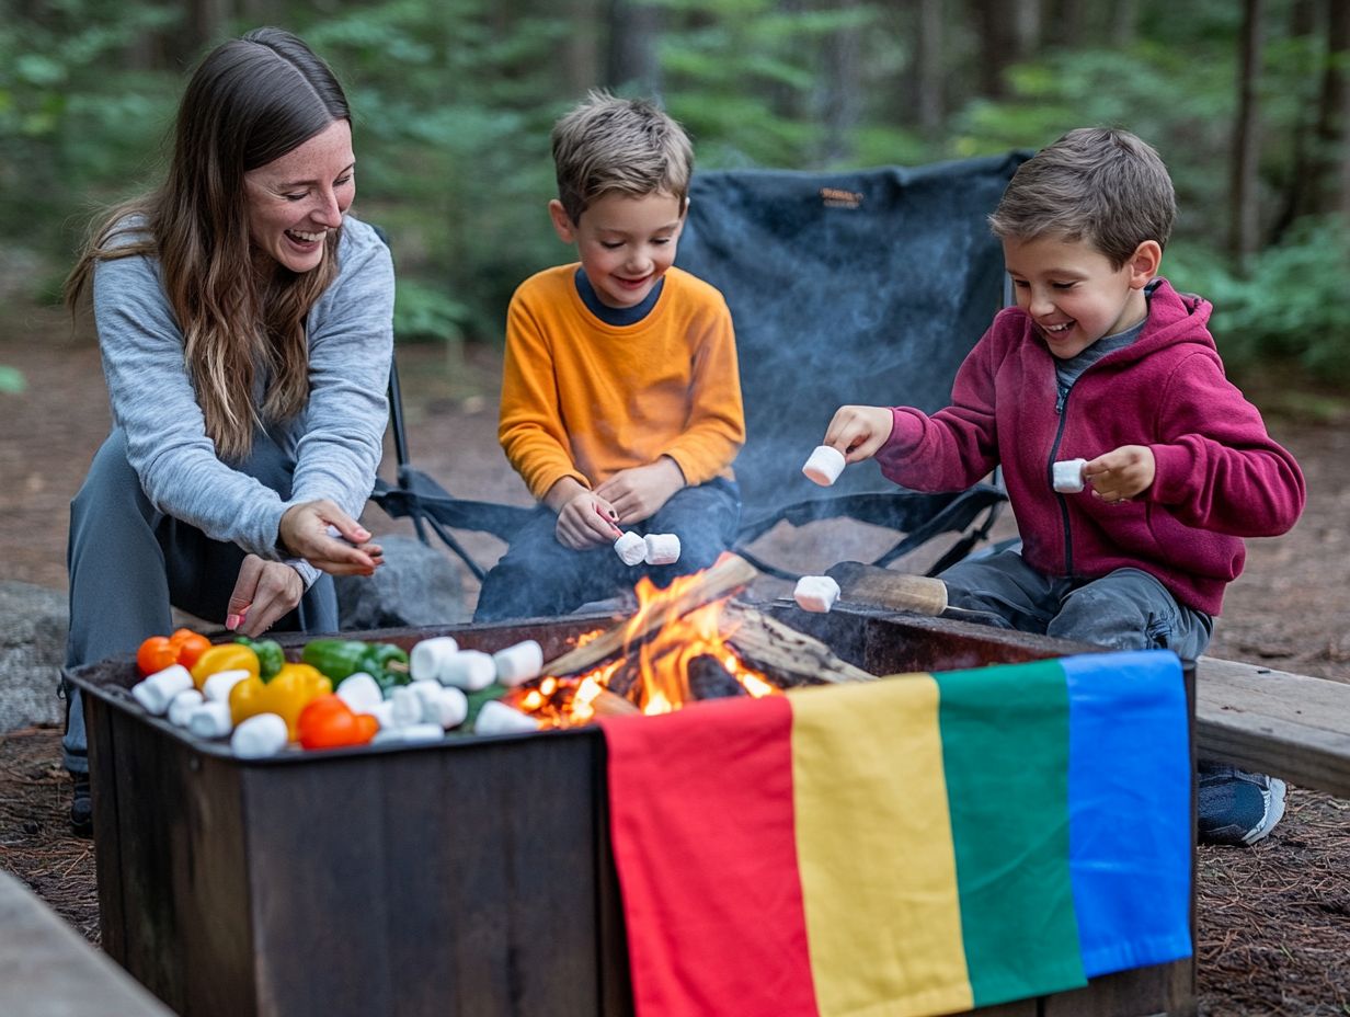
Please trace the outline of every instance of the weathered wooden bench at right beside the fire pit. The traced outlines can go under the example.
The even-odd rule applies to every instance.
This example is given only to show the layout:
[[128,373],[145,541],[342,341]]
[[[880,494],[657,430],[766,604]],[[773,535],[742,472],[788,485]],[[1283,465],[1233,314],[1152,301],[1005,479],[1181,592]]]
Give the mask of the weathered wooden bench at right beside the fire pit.
[[1202,759],[1350,798],[1350,685],[1212,656],[1195,678]]

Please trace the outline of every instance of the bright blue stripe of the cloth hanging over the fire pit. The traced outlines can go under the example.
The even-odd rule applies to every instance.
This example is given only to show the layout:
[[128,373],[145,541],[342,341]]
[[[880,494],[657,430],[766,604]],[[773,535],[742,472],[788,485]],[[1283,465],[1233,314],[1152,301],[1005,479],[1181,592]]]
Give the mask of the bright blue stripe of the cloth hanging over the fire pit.
[[1060,662],[1069,689],[1069,870],[1091,978],[1191,956],[1191,752],[1168,650]]

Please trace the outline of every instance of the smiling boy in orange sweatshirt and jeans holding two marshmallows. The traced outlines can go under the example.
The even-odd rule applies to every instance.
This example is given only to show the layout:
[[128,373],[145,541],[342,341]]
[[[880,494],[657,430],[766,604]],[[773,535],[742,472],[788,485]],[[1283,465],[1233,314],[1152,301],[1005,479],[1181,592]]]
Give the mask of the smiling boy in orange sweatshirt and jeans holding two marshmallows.
[[[693,147],[651,103],[593,92],[554,127],[554,228],[579,262],[525,280],[506,315],[498,439],[539,498],[487,574],[479,621],[537,617],[709,567],[736,538],[745,440],[722,294],[672,267]],[[674,533],[626,566],[624,532]]]

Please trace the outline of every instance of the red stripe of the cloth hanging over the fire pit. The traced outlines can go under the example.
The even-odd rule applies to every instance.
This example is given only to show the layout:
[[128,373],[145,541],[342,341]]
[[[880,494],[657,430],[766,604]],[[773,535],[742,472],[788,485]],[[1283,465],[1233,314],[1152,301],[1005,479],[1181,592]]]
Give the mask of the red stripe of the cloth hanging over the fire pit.
[[637,1017],[814,1017],[787,700],[602,727]]

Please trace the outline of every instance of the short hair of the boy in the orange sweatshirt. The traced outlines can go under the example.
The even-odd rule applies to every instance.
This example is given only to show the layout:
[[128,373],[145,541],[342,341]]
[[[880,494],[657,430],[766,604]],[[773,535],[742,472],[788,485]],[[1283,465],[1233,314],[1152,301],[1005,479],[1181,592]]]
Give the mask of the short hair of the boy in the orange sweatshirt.
[[603,194],[688,194],[694,146],[655,104],[593,90],[552,132],[558,200],[572,223]]

